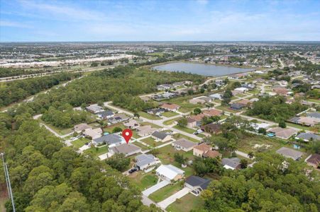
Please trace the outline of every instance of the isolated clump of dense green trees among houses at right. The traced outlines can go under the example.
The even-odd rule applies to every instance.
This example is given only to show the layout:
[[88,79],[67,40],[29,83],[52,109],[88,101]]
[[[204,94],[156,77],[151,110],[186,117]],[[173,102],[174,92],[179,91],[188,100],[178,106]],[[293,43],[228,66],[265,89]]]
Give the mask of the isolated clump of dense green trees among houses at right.
[[299,102],[286,104],[284,97],[276,96],[260,98],[258,102],[253,102],[253,108],[249,109],[247,113],[262,119],[280,122],[304,110],[307,110],[307,106],[301,105]]

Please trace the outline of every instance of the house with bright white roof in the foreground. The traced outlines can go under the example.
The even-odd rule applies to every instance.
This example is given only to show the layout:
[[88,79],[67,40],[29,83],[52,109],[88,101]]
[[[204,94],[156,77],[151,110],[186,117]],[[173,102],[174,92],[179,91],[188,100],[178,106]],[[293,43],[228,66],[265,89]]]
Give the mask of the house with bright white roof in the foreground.
[[174,165],[160,165],[157,170],[155,170],[155,174],[158,175],[161,179],[171,181],[177,181],[184,177],[184,170],[180,170],[180,168],[175,167]]

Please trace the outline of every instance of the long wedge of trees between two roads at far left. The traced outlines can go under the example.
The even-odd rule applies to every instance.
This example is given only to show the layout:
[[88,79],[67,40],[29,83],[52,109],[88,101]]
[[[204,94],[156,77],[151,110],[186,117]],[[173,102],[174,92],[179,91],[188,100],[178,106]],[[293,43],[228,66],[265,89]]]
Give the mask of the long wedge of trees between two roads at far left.
[[23,100],[42,90],[47,90],[62,81],[70,81],[81,76],[80,73],[59,73],[53,76],[28,78],[4,83],[0,88],[0,107]]

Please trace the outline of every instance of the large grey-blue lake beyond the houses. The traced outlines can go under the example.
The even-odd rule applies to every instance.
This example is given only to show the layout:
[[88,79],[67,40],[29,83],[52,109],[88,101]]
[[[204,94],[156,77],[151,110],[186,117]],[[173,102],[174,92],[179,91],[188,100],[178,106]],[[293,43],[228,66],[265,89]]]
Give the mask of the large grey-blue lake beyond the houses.
[[235,68],[229,66],[216,66],[214,64],[197,64],[187,62],[173,62],[160,66],[153,66],[158,71],[184,71],[187,73],[197,73],[204,76],[224,76],[232,73],[254,71],[254,69]]

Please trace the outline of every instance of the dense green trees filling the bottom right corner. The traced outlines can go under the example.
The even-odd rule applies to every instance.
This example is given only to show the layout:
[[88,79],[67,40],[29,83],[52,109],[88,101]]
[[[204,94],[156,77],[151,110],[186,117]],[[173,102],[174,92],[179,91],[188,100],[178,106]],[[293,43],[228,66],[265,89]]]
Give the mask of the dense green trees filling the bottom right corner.
[[211,182],[202,192],[204,209],[195,211],[319,211],[320,184],[303,162],[277,153],[260,153],[256,160],[252,168]]

